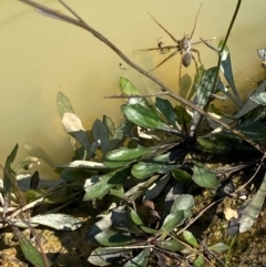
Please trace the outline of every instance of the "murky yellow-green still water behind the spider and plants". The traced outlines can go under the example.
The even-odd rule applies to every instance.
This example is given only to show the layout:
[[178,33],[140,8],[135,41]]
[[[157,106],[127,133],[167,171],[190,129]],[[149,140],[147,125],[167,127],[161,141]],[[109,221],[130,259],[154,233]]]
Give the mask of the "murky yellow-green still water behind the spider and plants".
[[[68,11],[55,0],[38,1],[55,10]],[[136,52],[132,49],[154,48],[157,39],[173,44],[167,34],[147,14],[151,13],[176,39],[190,34],[196,12],[203,3],[193,41],[225,35],[236,1],[66,1],[94,29],[99,30],[131,60],[146,70],[165,55]],[[0,1],[0,163],[19,143],[17,161],[27,153],[25,142],[41,146],[57,163],[72,157],[57,107],[61,91],[72,102],[75,114],[90,129],[94,120],[108,114],[121,119],[122,100],[103,96],[119,93],[119,76],[129,78],[141,92],[156,92],[157,86],[134,70],[121,70],[123,61],[89,32],[59,20],[40,16],[19,1]],[[256,53],[266,47],[266,1],[243,1],[228,41],[236,85],[245,99],[264,71]],[[214,45],[217,42],[213,43]],[[201,51],[205,68],[216,64],[216,55],[204,44]],[[153,73],[174,91],[178,88],[180,55],[174,57]],[[123,63],[126,68],[126,64]],[[194,75],[195,66],[182,70]],[[227,105],[233,105],[228,103]],[[41,176],[57,177],[45,163],[39,166]]]

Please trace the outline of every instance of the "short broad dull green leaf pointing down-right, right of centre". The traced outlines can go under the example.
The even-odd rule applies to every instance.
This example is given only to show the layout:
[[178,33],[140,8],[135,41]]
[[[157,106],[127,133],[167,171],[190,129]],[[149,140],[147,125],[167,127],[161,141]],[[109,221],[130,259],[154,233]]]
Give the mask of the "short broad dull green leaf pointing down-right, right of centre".
[[217,188],[219,185],[215,174],[206,170],[200,162],[194,162],[192,179],[201,187]]

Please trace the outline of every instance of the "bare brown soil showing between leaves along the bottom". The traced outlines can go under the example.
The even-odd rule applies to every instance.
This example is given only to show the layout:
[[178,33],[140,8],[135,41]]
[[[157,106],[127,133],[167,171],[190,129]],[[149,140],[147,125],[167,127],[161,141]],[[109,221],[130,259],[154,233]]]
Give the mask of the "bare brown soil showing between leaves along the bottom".
[[[207,193],[203,192],[202,196],[205,194]],[[206,204],[207,202],[205,202]],[[218,255],[224,263],[228,256],[227,266],[229,267],[266,266],[266,207],[264,206],[253,228],[246,233],[236,235],[233,243],[234,237],[228,235],[228,220],[225,219],[224,212],[228,207],[234,209],[236,205],[239,205],[238,198],[225,197],[223,202],[207,209],[190,227],[190,230],[200,240],[204,240],[207,246],[216,243],[225,243],[228,246],[233,244],[229,253]],[[202,207],[197,206],[197,208],[200,210]],[[94,266],[88,261],[88,257],[94,247],[85,243],[84,237],[90,232],[91,225],[95,223],[99,210],[90,203],[80,201],[61,210],[83,220],[84,225],[80,229],[75,232],[59,232],[45,227],[38,227],[35,229],[47,256],[53,261],[52,266]],[[28,229],[23,230],[23,234],[30,236]],[[218,265],[212,256],[208,258],[212,260],[213,266],[223,266]],[[154,264],[150,266],[155,267],[156,260],[152,260],[152,263]],[[167,266],[177,266],[176,260],[170,263],[172,264]],[[11,228],[8,227],[0,234],[0,265],[3,267],[32,266],[24,259],[16,236],[12,234]]]

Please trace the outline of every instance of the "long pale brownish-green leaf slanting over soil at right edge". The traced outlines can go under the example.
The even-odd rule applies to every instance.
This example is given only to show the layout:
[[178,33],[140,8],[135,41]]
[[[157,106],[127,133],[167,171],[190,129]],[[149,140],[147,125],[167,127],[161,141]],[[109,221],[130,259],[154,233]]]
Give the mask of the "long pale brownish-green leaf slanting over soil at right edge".
[[266,173],[264,181],[257,191],[256,195],[252,198],[247,207],[244,209],[239,219],[239,233],[244,233],[252,228],[256,219],[258,218],[266,196]]

